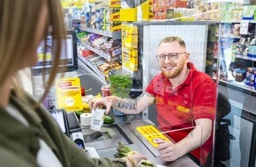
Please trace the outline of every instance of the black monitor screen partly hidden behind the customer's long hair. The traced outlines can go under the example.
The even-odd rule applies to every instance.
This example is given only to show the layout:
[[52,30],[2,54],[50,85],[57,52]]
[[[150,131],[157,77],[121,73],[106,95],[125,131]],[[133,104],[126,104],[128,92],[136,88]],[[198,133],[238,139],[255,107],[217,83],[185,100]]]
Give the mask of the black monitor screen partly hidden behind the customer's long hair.
[[[77,42],[75,34],[70,31],[67,32],[66,38],[63,40],[64,47],[62,47],[61,57],[60,57],[60,67],[65,66],[66,71],[72,71],[78,69],[78,55],[77,55]],[[54,50],[54,40],[52,36],[47,37],[46,42],[43,40],[39,47],[37,47],[38,62],[37,65],[33,67],[35,74],[40,74],[42,69],[51,68],[53,65],[53,50]],[[46,52],[46,54],[44,54]],[[45,56],[45,58],[44,58]]]

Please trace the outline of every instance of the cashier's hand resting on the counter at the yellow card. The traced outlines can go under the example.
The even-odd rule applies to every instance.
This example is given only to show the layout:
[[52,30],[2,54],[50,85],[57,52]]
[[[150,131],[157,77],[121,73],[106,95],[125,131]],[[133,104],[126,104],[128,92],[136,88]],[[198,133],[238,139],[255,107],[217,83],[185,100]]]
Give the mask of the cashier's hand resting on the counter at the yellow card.
[[174,143],[167,141],[158,141],[157,143],[159,144],[157,149],[159,150],[163,161],[171,162],[177,160],[180,156],[183,156],[181,149],[178,149],[177,145]]

